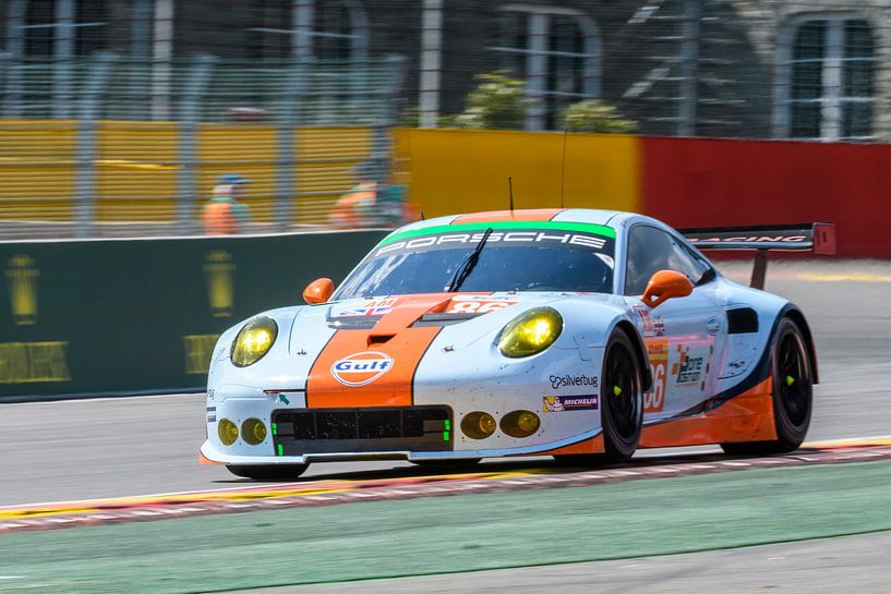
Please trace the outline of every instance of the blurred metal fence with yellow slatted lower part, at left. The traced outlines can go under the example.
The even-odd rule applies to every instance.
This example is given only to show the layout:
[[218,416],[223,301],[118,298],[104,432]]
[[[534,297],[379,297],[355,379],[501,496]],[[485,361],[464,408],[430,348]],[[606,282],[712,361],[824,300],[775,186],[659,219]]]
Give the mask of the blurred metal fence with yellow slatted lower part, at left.
[[246,231],[284,231],[388,180],[398,57],[62,65],[65,85],[58,62],[0,60],[0,238],[200,232],[227,173],[249,180]]

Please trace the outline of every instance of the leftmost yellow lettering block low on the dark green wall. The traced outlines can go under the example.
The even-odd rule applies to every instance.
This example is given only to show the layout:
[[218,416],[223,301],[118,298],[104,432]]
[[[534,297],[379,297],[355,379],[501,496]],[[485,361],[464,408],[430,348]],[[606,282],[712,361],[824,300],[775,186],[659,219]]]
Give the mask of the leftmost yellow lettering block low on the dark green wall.
[[69,380],[68,342],[0,343],[0,384]]

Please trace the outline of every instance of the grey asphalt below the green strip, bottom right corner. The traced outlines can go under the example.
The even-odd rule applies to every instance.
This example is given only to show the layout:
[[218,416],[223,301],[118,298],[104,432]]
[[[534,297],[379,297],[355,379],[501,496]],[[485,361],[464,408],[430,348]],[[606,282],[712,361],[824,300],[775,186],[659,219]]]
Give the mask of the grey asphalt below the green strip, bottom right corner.
[[[690,594],[807,592],[884,594],[891,532],[799,543],[708,550],[459,574],[324,585],[269,587],[239,594]],[[732,584],[732,585],[731,585]]]

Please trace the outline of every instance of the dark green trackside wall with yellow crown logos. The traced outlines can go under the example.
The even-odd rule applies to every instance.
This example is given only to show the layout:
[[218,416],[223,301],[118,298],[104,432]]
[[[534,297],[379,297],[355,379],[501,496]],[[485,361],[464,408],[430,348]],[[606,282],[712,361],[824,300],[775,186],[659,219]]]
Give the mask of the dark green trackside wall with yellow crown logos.
[[0,402],[204,389],[222,330],[341,280],[383,235],[0,243]]

